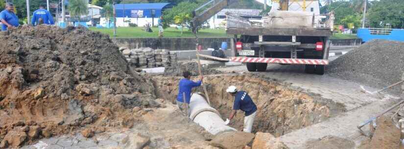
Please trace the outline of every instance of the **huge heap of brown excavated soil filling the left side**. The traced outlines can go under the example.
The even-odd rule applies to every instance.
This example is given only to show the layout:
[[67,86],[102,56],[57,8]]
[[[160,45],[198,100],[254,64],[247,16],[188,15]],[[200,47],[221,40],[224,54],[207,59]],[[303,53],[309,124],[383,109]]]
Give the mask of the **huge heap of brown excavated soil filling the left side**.
[[39,25],[0,40],[0,148],[86,125],[131,127],[132,108],[159,106],[107,35]]

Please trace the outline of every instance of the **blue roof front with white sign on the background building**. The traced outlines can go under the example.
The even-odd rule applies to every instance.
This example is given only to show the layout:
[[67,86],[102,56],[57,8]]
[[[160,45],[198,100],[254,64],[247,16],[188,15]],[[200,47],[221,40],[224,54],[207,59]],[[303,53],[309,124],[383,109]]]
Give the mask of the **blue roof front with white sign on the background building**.
[[152,18],[152,10],[155,11],[154,18],[158,18],[162,14],[162,10],[171,7],[171,3],[131,3],[116,4],[117,17],[128,18]]

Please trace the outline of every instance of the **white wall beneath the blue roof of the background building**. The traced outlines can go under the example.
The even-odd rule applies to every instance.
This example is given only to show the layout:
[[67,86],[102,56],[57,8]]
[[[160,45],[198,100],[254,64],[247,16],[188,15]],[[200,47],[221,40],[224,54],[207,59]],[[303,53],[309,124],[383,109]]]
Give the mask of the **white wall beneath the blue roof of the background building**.
[[[150,23],[150,25],[152,24],[152,18],[125,18],[125,21],[129,20],[132,23],[136,23],[138,24],[139,27],[143,27],[144,25],[146,25],[147,22]],[[154,26],[157,26],[157,21],[159,19],[158,18],[154,18]],[[106,23],[105,18],[101,18],[100,19],[100,24],[103,25],[104,23]],[[129,23],[124,22],[123,18],[117,18],[117,27],[128,27]]]

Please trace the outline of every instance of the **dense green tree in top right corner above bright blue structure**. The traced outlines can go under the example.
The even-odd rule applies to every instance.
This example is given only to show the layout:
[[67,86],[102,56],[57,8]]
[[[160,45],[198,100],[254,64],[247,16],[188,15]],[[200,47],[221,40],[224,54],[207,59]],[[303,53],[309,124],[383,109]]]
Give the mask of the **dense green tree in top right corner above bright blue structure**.
[[[374,1],[367,13],[367,21],[370,26],[384,27],[391,24],[392,28],[404,28],[404,2],[403,0],[380,0]],[[380,22],[381,25],[380,25]]]

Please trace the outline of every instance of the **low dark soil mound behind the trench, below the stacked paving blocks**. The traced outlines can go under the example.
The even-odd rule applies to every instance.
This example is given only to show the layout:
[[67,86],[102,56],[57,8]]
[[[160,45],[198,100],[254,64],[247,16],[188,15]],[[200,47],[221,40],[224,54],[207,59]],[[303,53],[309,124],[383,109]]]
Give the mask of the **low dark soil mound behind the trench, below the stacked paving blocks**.
[[[191,76],[199,75],[198,63],[184,62],[176,67],[166,67],[166,69],[164,70],[164,76],[182,76],[182,73],[184,71],[190,71]],[[203,75],[221,74],[221,73],[223,72],[219,70],[202,67]]]

